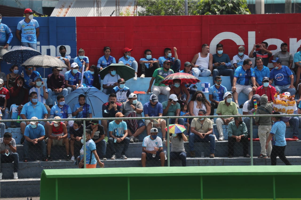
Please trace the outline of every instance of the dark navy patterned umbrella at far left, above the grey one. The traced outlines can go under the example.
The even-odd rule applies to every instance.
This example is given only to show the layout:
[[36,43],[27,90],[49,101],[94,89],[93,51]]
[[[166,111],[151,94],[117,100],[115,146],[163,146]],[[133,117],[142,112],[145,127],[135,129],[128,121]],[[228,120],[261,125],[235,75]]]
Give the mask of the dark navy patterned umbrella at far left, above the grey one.
[[27,59],[39,55],[42,55],[42,53],[34,50],[33,48],[20,46],[20,47],[15,47],[9,50],[8,52],[6,52],[5,54],[3,54],[2,58],[7,63],[20,66]]

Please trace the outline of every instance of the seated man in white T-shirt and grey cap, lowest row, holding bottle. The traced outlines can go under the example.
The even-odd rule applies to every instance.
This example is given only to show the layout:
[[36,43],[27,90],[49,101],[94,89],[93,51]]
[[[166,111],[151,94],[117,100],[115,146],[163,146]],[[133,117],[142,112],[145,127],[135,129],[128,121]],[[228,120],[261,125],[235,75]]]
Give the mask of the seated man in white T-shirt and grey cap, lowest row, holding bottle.
[[165,155],[161,138],[157,137],[158,129],[152,128],[151,135],[146,136],[142,142],[141,163],[142,167],[146,165],[146,159],[157,159],[161,161],[161,167],[164,167]]

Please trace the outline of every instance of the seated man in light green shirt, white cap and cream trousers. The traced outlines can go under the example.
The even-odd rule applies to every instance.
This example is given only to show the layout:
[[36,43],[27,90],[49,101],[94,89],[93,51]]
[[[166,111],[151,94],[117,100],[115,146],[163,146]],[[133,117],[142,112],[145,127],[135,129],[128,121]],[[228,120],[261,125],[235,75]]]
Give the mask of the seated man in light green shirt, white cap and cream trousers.
[[[238,114],[237,106],[234,102],[232,102],[232,94],[230,92],[226,92],[224,94],[224,101],[219,102],[217,106],[216,114],[218,115],[236,115]],[[225,140],[222,125],[228,125],[231,121],[233,121],[233,117],[229,117],[224,119],[216,118],[216,128],[219,132],[219,141]]]

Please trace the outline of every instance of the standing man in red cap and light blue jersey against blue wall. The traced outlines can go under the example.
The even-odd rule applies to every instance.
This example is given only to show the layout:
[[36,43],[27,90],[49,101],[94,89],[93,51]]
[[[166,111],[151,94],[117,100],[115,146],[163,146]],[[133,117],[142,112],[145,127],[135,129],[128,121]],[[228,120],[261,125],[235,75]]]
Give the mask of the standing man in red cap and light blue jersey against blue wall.
[[40,35],[40,30],[38,21],[33,19],[33,13],[30,8],[25,9],[25,19],[18,23],[16,37],[21,41],[23,47],[31,47],[37,50],[37,38]]

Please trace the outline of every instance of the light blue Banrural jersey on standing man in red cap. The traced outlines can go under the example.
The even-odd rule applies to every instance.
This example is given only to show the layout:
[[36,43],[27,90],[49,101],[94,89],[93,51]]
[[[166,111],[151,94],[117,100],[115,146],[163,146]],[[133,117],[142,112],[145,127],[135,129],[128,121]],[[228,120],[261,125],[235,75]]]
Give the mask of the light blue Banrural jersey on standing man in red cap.
[[37,43],[36,29],[39,28],[39,23],[37,20],[30,20],[26,23],[21,20],[17,25],[17,30],[21,31],[21,42]]

